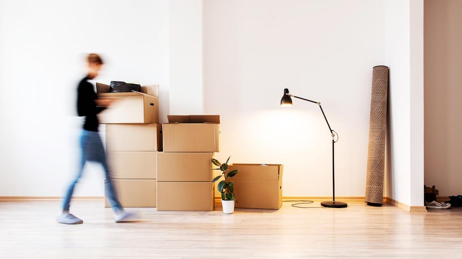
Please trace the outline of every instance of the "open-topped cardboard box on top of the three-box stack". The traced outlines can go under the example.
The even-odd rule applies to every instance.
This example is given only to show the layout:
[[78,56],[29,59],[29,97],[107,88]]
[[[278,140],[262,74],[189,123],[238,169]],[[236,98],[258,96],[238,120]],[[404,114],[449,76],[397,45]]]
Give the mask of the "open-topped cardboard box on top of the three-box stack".
[[169,115],[163,124],[164,152],[219,152],[219,115]]

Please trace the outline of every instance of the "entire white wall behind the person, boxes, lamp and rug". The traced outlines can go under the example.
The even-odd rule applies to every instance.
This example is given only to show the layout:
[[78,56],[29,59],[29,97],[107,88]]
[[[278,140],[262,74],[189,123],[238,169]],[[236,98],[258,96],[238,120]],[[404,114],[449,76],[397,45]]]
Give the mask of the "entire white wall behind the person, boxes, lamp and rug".
[[[415,15],[401,0],[4,1],[0,87],[20,92],[0,97],[0,196],[62,194],[80,127],[73,91],[83,54],[95,51],[107,57],[102,79],[161,85],[164,121],[169,112],[221,115],[216,158],[284,164],[284,196],[331,196],[332,169],[319,108],[294,99],[282,109],[283,89],[322,102],[340,136],[336,195],[364,196],[372,67],[389,66],[387,195],[414,204],[420,146],[411,147],[418,137],[410,129],[421,122],[411,94],[420,83],[410,66],[419,62],[411,53],[419,35],[410,31],[419,30],[411,19],[421,0],[412,1]],[[90,5],[97,15],[81,14]],[[132,20],[113,21],[113,13]],[[102,195],[102,173],[92,169],[101,181],[84,180],[78,195]]]

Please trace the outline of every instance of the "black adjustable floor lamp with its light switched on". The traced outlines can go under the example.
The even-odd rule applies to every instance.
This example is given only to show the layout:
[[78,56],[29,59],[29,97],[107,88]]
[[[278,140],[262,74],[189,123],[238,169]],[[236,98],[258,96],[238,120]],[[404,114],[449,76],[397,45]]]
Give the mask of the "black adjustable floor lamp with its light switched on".
[[[330,134],[332,135],[332,200],[330,201],[323,201],[321,202],[321,205],[324,207],[329,207],[329,208],[345,208],[347,207],[346,202],[342,201],[335,201],[335,173],[334,173],[334,144],[338,140],[338,134],[334,130],[330,128],[329,122],[327,121],[326,115],[324,114],[324,111],[322,110],[321,107],[321,102],[318,101],[312,101],[309,99],[301,98],[295,95],[292,95],[289,93],[289,89],[285,88],[284,89],[284,95],[281,98],[281,106],[292,106],[292,98],[290,97],[295,97],[298,99],[302,99],[305,101],[310,101],[313,103],[317,103],[319,108],[321,109],[321,112],[323,113],[324,119],[326,120],[327,126],[329,127]],[[335,137],[337,138],[335,140]]]

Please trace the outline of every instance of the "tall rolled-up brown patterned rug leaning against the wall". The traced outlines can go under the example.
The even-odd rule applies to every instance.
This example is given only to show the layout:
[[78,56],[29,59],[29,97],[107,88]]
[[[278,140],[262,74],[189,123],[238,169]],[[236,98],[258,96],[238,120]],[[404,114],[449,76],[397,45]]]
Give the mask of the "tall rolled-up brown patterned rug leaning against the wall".
[[372,96],[367,155],[366,202],[383,203],[383,175],[385,168],[385,134],[387,132],[388,72],[386,66],[372,71]]

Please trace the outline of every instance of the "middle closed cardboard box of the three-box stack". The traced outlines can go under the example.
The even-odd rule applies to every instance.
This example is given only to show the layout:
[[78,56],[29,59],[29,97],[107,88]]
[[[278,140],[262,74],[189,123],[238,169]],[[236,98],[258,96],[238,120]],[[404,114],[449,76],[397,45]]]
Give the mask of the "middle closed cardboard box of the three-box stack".
[[158,152],[159,182],[210,182],[213,153]]

